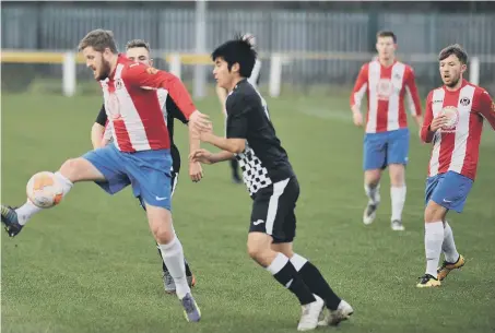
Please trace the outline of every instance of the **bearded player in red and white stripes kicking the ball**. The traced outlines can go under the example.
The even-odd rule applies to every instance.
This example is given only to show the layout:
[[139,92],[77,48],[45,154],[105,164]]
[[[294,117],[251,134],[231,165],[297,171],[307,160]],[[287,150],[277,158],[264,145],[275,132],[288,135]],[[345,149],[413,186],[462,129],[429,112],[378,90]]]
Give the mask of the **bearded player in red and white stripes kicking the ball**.
[[[170,140],[156,90],[168,92],[191,131],[209,128],[210,123],[177,76],[119,55],[111,32],[90,32],[79,49],[102,85],[114,142],[68,159],[55,177],[63,197],[78,181],[95,181],[110,194],[131,185],[134,195],[145,204],[150,229],[174,277],[186,318],[199,321],[201,313],[186,280],[182,246],[172,225]],[[191,148],[198,148],[199,138],[192,136]],[[40,210],[30,200],[17,210],[2,205],[1,219],[9,235],[15,236]]]

